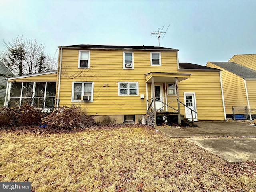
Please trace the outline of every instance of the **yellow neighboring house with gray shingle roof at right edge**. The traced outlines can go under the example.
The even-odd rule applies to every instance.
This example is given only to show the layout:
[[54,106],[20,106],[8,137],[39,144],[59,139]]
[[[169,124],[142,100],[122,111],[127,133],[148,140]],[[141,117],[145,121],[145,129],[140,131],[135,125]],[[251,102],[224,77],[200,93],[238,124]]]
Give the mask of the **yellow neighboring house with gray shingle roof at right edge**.
[[[230,61],[208,62],[206,66],[222,70],[226,116],[233,115],[233,107],[243,106],[248,108],[248,117],[252,120],[256,117],[255,112],[251,112],[256,109],[256,55],[234,55]],[[242,110],[240,113],[244,114]]]

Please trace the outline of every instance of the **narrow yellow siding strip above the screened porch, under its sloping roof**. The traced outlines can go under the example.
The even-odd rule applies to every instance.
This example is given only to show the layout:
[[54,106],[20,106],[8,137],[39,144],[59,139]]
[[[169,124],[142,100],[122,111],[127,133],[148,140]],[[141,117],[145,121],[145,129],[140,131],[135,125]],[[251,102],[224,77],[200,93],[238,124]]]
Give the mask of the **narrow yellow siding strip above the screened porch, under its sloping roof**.
[[57,73],[52,74],[42,74],[31,77],[21,77],[12,80],[8,80],[8,82],[56,82]]

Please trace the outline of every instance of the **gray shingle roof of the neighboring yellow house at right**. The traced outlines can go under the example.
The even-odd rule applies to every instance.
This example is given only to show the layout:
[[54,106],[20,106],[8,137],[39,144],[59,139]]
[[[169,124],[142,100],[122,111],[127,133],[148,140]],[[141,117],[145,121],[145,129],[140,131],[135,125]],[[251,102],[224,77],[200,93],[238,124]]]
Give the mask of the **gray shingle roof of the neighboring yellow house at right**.
[[212,62],[212,64],[217,65],[231,73],[234,73],[244,79],[254,79],[256,78],[256,71],[252,70],[250,68],[247,68],[245,66],[242,66],[240,64],[234,63],[234,62]]

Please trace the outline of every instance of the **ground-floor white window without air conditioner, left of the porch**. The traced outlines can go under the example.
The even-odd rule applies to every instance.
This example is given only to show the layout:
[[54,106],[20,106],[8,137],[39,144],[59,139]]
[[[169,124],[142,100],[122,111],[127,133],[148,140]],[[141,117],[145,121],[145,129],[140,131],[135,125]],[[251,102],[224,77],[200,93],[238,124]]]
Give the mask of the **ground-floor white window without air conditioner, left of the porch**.
[[138,95],[138,82],[118,82],[118,95]]

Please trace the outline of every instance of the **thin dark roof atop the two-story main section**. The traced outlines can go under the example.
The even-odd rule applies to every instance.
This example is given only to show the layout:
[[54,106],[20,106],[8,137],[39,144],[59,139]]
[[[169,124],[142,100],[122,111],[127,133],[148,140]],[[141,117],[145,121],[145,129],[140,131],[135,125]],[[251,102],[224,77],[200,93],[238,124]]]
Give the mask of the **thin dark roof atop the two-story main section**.
[[154,46],[119,46],[119,45],[68,45],[59,46],[58,48],[88,48],[88,49],[139,49],[139,50],[177,50],[166,47]]

